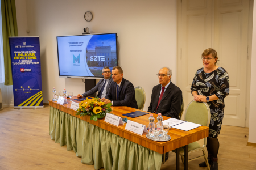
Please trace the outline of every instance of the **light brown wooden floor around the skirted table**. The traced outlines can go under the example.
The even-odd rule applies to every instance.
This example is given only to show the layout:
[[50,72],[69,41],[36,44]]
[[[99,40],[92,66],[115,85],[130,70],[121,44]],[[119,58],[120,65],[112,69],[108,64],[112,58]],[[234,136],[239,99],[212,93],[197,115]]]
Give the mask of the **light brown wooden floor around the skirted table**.
[[[43,109],[4,108],[0,111],[0,169],[94,169],[81,163],[73,151],[60,147],[49,137],[49,106]],[[256,147],[246,146],[248,128],[222,126],[219,169],[256,169]],[[201,152],[189,155],[197,156]],[[188,163],[188,169],[199,167],[204,159]],[[183,164],[180,160],[180,169]],[[104,168],[101,168],[104,169]],[[175,169],[175,154],[163,169]]]

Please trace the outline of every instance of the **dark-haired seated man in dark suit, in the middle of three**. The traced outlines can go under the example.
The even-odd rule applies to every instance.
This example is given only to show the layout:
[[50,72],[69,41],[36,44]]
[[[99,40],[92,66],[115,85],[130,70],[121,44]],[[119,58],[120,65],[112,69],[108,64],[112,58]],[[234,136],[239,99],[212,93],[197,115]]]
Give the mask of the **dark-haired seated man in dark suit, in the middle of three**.
[[123,78],[123,70],[121,67],[113,67],[112,70],[113,82],[104,99],[105,103],[112,103],[113,106],[127,106],[138,109],[135,100],[135,90],[133,84]]

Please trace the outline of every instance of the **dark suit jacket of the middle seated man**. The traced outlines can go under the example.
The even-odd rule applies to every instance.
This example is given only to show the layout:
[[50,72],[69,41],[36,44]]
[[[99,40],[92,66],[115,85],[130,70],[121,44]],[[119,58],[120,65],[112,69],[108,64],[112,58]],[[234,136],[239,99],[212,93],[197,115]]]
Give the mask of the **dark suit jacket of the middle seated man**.
[[113,82],[109,89],[106,99],[113,101],[113,106],[123,105],[131,108],[138,109],[137,102],[135,100],[135,90],[133,84],[126,79],[122,79],[119,87],[119,100],[117,100],[117,83]]

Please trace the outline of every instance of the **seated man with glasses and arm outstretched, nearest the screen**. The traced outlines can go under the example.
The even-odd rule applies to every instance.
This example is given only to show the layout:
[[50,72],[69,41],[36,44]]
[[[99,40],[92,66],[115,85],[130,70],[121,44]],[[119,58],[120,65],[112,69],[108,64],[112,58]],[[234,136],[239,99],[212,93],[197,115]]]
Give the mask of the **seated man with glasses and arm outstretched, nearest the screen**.
[[95,87],[93,87],[91,90],[85,92],[82,95],[78,94],[77,98],[90,96],[90,95],[94,94],[97,91],[98,91],[97,97],[104,98],[106,96],[106,94],[108,93],[110,85],[113,82],[113,79],[110,77],[111,76],[111,72],[110,72],[109,67],[104,67],[102,69],[102,75],[104,76],[104,79],[101,79],[97,83],[97,85]]

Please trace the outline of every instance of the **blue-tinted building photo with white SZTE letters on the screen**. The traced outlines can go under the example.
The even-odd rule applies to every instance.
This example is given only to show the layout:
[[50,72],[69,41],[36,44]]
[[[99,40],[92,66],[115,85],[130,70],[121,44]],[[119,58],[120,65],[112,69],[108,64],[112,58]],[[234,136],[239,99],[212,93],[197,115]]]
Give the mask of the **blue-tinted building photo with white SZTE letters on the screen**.
[[94,76],[102,76],[102,69],[117,66],[117,41],[115,34],[93,35],[86,48],[85,65]]

